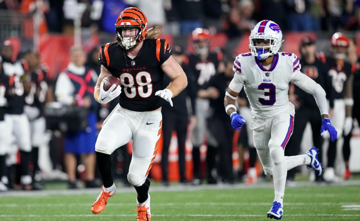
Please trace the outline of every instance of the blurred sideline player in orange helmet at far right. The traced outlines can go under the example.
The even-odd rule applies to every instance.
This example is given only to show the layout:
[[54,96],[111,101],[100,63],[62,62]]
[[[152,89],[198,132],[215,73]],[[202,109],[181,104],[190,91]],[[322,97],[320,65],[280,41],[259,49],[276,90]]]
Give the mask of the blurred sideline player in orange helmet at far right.
[[[333,125],[338,131],[338,137],[348,135],[352,128],[352,106],[354,99],[352,97],[352,84],[355,64],[352,65],[345,61],[347,48],[349,45],[348,38],[340,33],[334,33],[330,40],[331,56],[323,59],[328,68],[328,76],[332,79],[334,94],[334,114],[331,117]],[[336,157],[337,140],[329,143],[328,165],[324,171],[324,180],[332,182],[335,179],[334,162]]]

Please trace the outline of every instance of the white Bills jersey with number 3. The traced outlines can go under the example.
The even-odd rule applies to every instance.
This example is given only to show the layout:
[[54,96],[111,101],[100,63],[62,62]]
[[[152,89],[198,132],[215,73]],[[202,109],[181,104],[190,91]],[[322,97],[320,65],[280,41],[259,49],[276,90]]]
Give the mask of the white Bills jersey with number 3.
[[[262,66],[261,61],[251,53],[239,54],[234,61],[235,75],[229,88],[234,92],[240,92],[244,87],[253,118],[265,120],[282,112],[294,116],[294,105],[288,98],[289,83],[313,95],[319,89],[320,85],[300,72],[300,60],[293,53],[277,53],[268,68]],[[319,100],[316,102],[319,105]],[[325,103],[326,100],[321,100],[321,114],[327,113]]]

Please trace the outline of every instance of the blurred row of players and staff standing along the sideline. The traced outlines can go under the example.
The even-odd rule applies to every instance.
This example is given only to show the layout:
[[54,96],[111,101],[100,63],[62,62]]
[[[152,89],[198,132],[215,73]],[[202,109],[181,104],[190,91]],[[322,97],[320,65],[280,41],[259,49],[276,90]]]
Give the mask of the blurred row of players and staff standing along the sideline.
[[[224,96],[233,78],[235,55],[220,50],[210,51],[210,34],[203,28],[192,32],[194,52],[185,53],[181,46],[173,45],[172,56],[183,67],[188,77],[188,87],[173,99],[174,107],[163,103],[163,147],[161,177],[164,185],[169,183],[169,146],[172,133],[176,132],[179,162],[179,181],[200,185],[234,183],[245,181],[252,184],[264,176],[253,147],[251,109],[246,95],[237,100],[239,113],[246,119],[242,130],[234,131],[230,118],[224,111]],[[350,179],[348,169],[350,139],[353,121],[359,122],[360,63],[354,40],[337,32],[330,40],[330,54],[316,50],[316,39],[306,36],[299,45],[301,71],[318,82],[329,100],[330,118],[344,136],[343,157],[345,173],[337,174]],[[100,105],[93,99],[94,85],[99,75],[98,47],[86,55],[81,47],[69,51],[70,63],[55,81],[46,78],[46,66],[40,63],[40,55],[25,51],[13,60],[10,41],[1,45],[0,62],[0,189],[42,189],[46,179],[68,180],[68,187],[79,188],[79,181],[86,188],[101,184],[96,179],[95,142],[103,120],[117,105],[114,99]],[[164,87],[170,79],[164,78]],[[344,84],[345,82],[345,84]],[[352,90],[349,90],[351,87]],[[348,115],[349,94],[352,91],[354,106]],[[351,97],[350,96],[350,97]],[[321,117],[316,102],[291,85],[289,99],[296,107],[294,131],[286,155],[300,152],[300,143],[307,122],[312,127],[312,139],[321,149]],[[185,174],[186,141],[192,144],[192,179]],[[205,162],[201,160],[201,148],[206,146]],[[327,168],[315,181],[336,181],[334,166],[336,141],[330,142],[327,153]],[[238,149],[239,168],[234,171],[233,149]],[[131,153],[127,145],[113,154],[113,173],[122,179],[127,174]],[[205,163],[205,170],[202,165]],[[66,173],[64,173],[64,172]],[[288,174],[288,185],[293,184],[295,170]],[[150,172],[152,176],[152,172]],[[311,175],[312,176],[312,175]],[[311,177],[310,176],[310,177]],[[315,179],[315,176],[313,176]],[[126,184],[126,178],[124,179]]]

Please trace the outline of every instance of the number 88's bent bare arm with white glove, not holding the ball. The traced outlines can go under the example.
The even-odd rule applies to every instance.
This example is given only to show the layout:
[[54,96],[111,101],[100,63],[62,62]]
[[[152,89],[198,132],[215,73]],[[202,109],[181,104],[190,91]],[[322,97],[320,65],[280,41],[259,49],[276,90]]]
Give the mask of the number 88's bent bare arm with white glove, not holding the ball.
[[180,94],[180,92],[185,89],[188,85],[188,79],[186,78],[183,68],[181,68],[171,55],[162,64],[161,69],[171,79],[171,82],[166,89],[156,91],[155,95],[165,99],[172,107],[171,98]]

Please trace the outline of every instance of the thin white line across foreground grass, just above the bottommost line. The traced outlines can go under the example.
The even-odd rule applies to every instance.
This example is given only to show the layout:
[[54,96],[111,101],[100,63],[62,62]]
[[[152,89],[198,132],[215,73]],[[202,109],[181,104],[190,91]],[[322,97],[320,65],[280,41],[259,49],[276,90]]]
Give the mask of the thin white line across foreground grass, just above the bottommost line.
[[[343,204],[342,207],[354,207],[356,202],[340,202],[340,203],[284,203],[284,206],[338,206]],[[354,205],[349,205],[354,204]],[[107,206],[134,206],[135,203],[109,203]],[[269,206],[269,202],[191,202],[191,203],[152,203],[153,206]],[[10,203],[10,204],[0,204],[0,207],[90,207],[91,203]],[[360,207],[360,205],[355,205]]]

